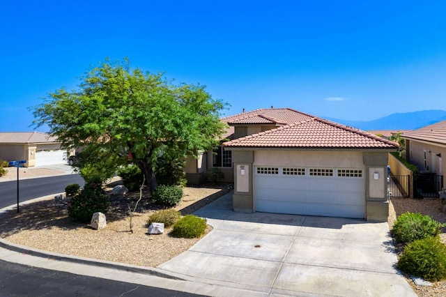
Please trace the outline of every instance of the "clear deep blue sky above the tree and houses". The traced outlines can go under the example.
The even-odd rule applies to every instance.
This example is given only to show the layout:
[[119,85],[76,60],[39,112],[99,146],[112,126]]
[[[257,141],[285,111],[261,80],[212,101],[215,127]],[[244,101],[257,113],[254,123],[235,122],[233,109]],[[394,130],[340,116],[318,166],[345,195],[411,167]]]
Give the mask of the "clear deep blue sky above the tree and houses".
[[446,109],[445,11],[445,1],[3,1],[0,132],[33,130],[29,108],[106,57],[204,84],[226,115]]

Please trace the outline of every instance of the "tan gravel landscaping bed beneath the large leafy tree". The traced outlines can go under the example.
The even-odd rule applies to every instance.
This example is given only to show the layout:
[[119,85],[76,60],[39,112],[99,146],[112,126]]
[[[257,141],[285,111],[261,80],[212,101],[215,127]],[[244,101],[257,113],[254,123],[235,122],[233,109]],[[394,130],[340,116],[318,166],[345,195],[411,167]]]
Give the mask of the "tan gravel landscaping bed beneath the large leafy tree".
[[[110,190],[110,189],[108,189]],[[184,188],[183,199],[175,207],[183,215],[193,213],[230,191],[228,185],[208,184],[200,188]],[[147,193],[144,197],[148,197]],[[6,241],[78,257],[116,261],[156,267],[188,250],[199,238],[174,238],[164,234],[148,235],[146,220],[160,209],[151,199],[143,198],[132,218],[130,232],[129,207],[133,208],[139,192],[124,197],[111,197],[107,227],[95,230],[68,218],[66,206],[54,199],[27,204],[0,214],[0,237]],[[208,227],[208,231],[211,228]]]

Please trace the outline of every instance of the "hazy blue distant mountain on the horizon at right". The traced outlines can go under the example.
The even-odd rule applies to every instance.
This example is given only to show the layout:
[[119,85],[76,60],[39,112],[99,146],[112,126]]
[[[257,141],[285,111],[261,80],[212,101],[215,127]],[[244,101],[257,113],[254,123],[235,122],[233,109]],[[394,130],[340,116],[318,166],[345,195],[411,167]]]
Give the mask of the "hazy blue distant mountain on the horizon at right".
[[420,112],[406,112],[390,114],[374,121],[346,121],[341,119],[325,118],[336,123],[348,125],[361,130],[414,130],[446,120],[445,110],[423,110]]

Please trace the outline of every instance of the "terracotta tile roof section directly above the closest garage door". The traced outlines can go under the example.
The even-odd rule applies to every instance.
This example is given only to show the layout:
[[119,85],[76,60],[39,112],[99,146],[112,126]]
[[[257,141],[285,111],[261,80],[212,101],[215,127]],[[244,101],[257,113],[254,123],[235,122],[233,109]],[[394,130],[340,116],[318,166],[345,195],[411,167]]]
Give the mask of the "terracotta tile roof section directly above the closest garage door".
[[309,117],[279,128],[225,142],[229,147],[250,148],[387,148],[398,144],[346,125]]

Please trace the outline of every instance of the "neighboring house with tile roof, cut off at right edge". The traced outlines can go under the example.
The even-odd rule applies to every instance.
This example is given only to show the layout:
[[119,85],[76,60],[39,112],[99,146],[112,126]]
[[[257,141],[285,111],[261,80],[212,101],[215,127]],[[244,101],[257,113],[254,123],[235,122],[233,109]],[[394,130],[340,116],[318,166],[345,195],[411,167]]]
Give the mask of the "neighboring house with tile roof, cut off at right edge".
[[401,137],[406,139],[406,160],[416,165],[422,174],[439,176],[438,188],[441,189],[446,172],[446,164],[442,161],[446,156],[446,121],[405,132]]

